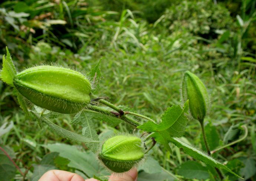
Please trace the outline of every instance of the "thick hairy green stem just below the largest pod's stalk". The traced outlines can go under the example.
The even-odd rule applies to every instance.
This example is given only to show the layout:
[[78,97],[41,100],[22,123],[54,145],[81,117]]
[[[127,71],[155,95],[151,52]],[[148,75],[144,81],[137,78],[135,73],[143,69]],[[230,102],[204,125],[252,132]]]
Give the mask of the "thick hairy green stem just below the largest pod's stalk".
[[136,120],[134,120],[134,119],[132,119],[130,117],[127,117],[125,115],[123,115],[121,117],[121,116],[119,116],[119,113],[115,113],[113,111],[109,111],[109,110],[103,109],[103,108],[95,106],[95,105],[88,105],[87,108],[90,109],[90,110],[96,111],[98,113],[103,113],[103,114],[106,114],[106,115],[110,115],[110,116],[119,118],[119,119],[121,119],[121,120],[123,120],[123,121],[125,121],[125,122],[127,122],[129,124],[132,124],[132,125],[136,126],[136,127],[141,125],[138,121],[136,121]]

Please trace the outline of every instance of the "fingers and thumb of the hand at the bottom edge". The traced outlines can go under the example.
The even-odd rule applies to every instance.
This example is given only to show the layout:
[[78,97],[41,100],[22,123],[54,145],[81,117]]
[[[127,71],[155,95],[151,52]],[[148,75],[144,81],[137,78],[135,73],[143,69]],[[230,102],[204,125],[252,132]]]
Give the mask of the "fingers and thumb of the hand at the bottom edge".
[[[137,181],[138,172],[136,168],[125,172],[122,175],[111,174],[108,181]],[[98,181],[94,178],[84,180],[78,174],[63,171],[63,170],[50,170],[47,171],[38,181]]]

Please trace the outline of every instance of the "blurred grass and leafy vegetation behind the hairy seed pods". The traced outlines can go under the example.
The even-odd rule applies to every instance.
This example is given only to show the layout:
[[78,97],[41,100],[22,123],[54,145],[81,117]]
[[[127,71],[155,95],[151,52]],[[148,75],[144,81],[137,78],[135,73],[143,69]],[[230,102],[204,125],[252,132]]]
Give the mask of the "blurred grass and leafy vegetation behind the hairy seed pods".
[[[167,107],[183,104],[181,81],[190,70],[211,95],[205,121],[210,149],[242,137],[241,125],[249,132],[213,156],[245,180],[256,181],[255,7],[255,0],[3,0],[0,57],[7,46],[19,70],[54,63],[85,73],[101,60],[104,78],[96,94],[158,121]],[[0,111],[0,145],[22,172],[0,151],[1,181],[37,181],[40,173],[53,168],[85,178],[102,173],[90,160],[91,152],[83,154],[87,165],[74,166],[75,155],[86,146],[59,137],[47,125],[40,129],[1,81]],[[82,133],[81,126],[69,124],[71,119],[60,115],[55,123]],[[95,121],[95,129],[104,139],[133,128],[123,123],[110,127],[102,120]],[[183,140],[205,150],[198,121],[190,118]],[[139,169],[138,181],[213,180],[210,168],[172,147],[172,154],[154,147],[149,163]],[[227,180],[237,178],[230,175]]]

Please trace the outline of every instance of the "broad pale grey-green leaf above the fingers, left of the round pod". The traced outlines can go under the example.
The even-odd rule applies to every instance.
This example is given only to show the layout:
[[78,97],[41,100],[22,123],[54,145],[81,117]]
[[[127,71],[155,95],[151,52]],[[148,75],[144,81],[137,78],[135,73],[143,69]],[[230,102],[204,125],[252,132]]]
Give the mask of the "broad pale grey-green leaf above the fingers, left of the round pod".
[[44,147],[52,152],[59,152],[60,157],[70,160],[69,167],[85,172],[90,178],[93,175],[109,175],[109,172],[101,167],[96,156],[90,151],[80,151],[75,146],[62,143],[47,144]]

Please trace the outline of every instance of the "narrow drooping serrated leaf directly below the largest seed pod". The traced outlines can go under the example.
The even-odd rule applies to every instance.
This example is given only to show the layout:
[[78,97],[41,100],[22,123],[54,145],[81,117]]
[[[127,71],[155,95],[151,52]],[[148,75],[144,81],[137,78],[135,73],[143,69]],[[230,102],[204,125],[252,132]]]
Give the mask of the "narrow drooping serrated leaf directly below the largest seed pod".
[[78,142],[83,142],[83,143],[99,143],[97,140],[91,140],[90,138],[84,137],[80,134],[73,133],[72,131],[65,130],[58,125],[52,123],[49,121],[47,118],[43,117],[45,123],[50,127],[51,130],[55,131],[58,135],[73,140],[73,141],[78,141]]

